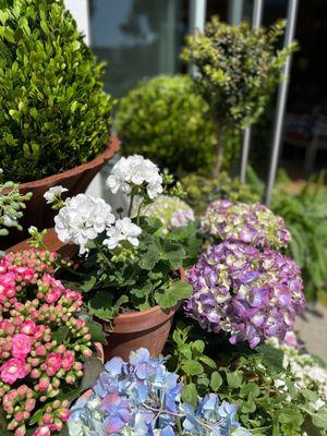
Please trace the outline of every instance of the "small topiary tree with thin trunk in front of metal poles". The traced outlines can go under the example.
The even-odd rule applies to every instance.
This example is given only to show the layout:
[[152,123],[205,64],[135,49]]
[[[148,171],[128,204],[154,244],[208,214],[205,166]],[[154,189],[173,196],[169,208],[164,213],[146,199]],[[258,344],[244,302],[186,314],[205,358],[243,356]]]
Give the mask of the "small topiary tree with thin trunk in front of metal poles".
[[231,129],[242,130],[256,122],[282,78],[281,66],[295,48],[278,50],[283,29],[283,21],[252,29],[247,23],[234,27],[213,17],[204,33],[186,39],[182,58],[197,68],[194,81],[216,120],[217,173],[221,137]]

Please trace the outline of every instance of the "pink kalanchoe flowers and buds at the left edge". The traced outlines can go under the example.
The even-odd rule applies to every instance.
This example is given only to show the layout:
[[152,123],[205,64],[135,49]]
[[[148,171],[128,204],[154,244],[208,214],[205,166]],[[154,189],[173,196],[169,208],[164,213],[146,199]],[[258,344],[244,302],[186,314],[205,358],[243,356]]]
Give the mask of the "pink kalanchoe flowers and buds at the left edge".
[[62,428],[69,403],[56,397],[76,388],[92,356],[88,328],[76,317],[82,295],[51,276],[55,261],[35,250],[0,261],[0,408],[15,436]]

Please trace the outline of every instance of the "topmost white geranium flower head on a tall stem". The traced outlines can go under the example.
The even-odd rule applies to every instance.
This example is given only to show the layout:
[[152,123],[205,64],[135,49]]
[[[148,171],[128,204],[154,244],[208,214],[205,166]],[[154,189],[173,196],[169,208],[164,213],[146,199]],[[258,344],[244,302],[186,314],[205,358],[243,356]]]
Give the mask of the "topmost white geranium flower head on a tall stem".
[[106,181],[106,185],[113,194],[118,191],[130,194],[133,185],[143,184],[146,185],[150,198],[155,198],[162,192],[162,178],[158,167],[140,155],[122,157]]

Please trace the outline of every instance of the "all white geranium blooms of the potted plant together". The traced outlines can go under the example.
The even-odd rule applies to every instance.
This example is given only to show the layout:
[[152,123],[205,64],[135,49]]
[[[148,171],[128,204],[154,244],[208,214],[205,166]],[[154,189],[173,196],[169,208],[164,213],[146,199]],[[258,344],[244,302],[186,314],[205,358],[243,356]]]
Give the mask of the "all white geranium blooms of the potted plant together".
[[61,194],[65,191],[62,186],[52,186],[45,193],[46,201],[55,203],[53,208],[60,208],[55,217],[58,238],[64,243],[80,245],[80,254],[87,253],[87,243],[104,232],[107,238],[102,244],[110,250],[114,250],[123,241],[137,246],[142,229],[130,218],[133,199],[136,195],[156,198],[162,192],[162,177],[155,164],[134,155],[122,157],[113,166],[106,185],[113,194],[120,191],[129,195],[130,207],[126,217],[116,219],[109,204],[102,198],[86,194],[78,194],[62,202]]

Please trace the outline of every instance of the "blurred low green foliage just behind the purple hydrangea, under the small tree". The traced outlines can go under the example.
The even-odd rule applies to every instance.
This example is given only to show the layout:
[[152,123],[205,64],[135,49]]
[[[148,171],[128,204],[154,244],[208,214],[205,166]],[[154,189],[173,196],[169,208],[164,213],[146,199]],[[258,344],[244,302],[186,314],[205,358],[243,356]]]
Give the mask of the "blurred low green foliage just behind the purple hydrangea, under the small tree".
[[230,178],[220,173],[218,178],[208,178],[191,173],[181,179],[181,184],[187,193],[186,202],[197,214],[203,214],[208,204],[219,199],[229,198],[234,202],[256,203],[258,194],[238,178]]

